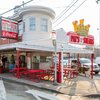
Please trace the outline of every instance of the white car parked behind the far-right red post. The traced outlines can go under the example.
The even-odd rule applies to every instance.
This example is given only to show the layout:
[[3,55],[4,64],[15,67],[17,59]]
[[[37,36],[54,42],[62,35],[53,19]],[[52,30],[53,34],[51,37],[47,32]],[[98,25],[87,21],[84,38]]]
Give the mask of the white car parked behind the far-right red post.
[[[91,60],[88,58],[80,58],[80,64],[81,64],[81,67],[91,68]],[[99,71],[100,71],[100,68],[98,64],[93,62],[93,72],[95,72],[95,74],[98,74]]]

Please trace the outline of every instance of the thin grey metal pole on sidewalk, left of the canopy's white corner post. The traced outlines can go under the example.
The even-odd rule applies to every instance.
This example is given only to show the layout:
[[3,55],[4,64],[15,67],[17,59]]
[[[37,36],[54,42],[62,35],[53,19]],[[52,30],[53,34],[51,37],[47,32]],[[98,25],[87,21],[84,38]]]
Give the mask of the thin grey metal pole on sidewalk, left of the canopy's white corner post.
[[57,83],[57,42],[56,37],[52,37],[52,44],[54,46],[54,83],[53,85],[58,85]]

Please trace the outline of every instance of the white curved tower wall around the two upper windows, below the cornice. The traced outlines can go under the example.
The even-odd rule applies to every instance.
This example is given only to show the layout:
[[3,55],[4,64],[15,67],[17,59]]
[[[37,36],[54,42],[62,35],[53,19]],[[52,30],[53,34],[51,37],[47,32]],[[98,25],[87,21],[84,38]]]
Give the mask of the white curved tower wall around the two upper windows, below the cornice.
[[[35,17],[36,18],[36,31],[30,31],[29,28],[29,18]],[[41,31],[41,18],[46,18],[48,20],[48,31],[42,32]],[[47,39],[50,38],[50,34],[52,31],[52,22],[51,18],[48,15],[44,15],[43,13],[40,14],[33,14],[28,13],[23,16],[23,21],[25,21],[25,32],[23,32],[23,41],[32,41],[32,40],[40,40],[40,39]]]

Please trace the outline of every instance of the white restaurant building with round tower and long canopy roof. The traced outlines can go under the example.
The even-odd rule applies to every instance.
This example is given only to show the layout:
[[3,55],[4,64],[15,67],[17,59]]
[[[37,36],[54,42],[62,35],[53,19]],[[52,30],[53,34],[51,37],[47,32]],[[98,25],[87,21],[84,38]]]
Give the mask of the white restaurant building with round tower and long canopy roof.
[[[57,52],[59,57],[59,67],[63,66],[61,59],[64,53],[88,53],[92,50],[85,50],[73,47],[68,43],[66,32],[61,28],[52,31],[52,21],[55,12],[47,7],[26,6],[24,8],[15,7],[14,15],[10,19],[18,22],[18,36],[13,39],[2,37],[0,45],[1,56],[15,60],[17,67],[27,67],[28,69],[48,69],[53,65],[52,58]],[[56,38],[53,35],[56,34]],[[6,42],[4,42],[6,41]],[[56,51],[55,44],[56,42]],[[12,55],[14,58],[12,58]],[[20,59],[19,59],[20,58]],[[8,67],[9,67],[8,64]],[[61,67],[63,70],[63,67]],[[60,76],[62,77],[62,76]],[[61,82],[61,78],[60,81]]]

